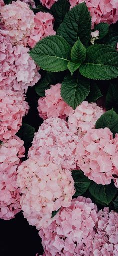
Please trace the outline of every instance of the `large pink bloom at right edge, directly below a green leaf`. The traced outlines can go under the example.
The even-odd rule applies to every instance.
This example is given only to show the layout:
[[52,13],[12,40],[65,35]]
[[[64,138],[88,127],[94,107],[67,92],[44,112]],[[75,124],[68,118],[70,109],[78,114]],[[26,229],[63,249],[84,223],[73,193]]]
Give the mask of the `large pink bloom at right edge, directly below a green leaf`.
[[118,136],[112,139],[109,128],[88,130],[78,143],[75,159],[84,174],[97,184],[110,184],[118,174]]

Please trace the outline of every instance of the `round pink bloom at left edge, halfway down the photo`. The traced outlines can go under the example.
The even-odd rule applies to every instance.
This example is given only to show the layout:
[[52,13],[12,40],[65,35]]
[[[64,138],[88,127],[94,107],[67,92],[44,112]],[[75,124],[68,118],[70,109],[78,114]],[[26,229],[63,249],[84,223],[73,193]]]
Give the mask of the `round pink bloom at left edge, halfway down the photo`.
[[22,124],[22,117],[29,109],[23,94],[0,90],[0,140],[15,135]]

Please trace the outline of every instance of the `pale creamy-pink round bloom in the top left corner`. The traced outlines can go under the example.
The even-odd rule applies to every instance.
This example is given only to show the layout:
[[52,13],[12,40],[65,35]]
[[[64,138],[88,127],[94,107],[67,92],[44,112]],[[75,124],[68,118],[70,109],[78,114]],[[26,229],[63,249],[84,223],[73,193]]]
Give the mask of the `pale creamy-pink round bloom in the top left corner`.
[[34,13],[29,5],[20,0],[12,1],[11,4],[4,5],[0,13],[1,23],[8,31],[12,44],[23,43],[26,46],[35,26]]

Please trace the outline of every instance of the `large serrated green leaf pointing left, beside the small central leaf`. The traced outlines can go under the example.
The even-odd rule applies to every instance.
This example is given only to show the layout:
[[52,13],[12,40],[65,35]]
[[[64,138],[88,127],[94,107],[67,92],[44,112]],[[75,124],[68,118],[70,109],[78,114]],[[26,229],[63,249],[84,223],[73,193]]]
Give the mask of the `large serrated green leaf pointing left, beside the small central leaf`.
[[29,54],[44,70],[58,72],[67,69],[70,60],[70,45],[60,36],[40,40]]

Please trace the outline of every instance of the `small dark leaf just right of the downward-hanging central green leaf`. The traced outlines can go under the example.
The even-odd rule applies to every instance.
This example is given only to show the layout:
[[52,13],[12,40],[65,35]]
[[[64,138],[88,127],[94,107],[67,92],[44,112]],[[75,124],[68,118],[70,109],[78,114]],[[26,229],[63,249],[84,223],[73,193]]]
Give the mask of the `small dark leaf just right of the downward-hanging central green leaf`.
[[95,102],[97,99],[102,97],[103,95],[101,94],[101,91],[98,87],[98,85],[94,82],[94,84],[90,85],[90,93],[87,96],[86,100],[90,102]]

